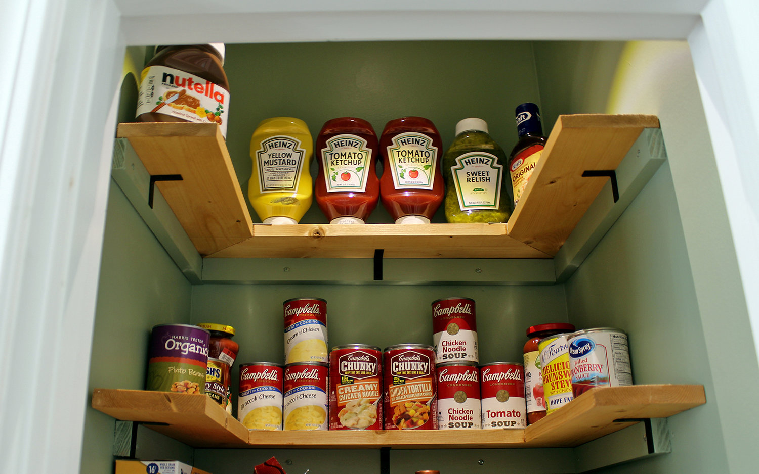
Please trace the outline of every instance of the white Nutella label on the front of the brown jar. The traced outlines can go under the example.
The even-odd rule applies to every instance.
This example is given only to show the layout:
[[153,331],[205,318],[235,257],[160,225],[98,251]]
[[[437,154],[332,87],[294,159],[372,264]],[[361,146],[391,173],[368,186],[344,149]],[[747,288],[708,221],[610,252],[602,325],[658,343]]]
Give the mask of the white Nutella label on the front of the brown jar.
[[227,137],[229,91],[203,77],[165,66],[142,71],[137,94],[137,115],[172,115],[188,122],[216,122]]

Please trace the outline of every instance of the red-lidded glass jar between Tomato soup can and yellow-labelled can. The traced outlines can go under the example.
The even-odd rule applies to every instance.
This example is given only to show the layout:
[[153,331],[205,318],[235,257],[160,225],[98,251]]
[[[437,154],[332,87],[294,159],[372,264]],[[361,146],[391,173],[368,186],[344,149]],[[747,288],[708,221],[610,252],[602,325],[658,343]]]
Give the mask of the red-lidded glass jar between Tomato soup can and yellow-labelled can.
[[546,416],[546,400],[543,397],[543,377],[540,375],[540,364],[537,364],[540,351],[537,343],[543,337],[575,331],[575,326],[566,322],[530,326],[527,329],[528,341],[524,343],[524,398],[527,400],[527,424],[532,425]]

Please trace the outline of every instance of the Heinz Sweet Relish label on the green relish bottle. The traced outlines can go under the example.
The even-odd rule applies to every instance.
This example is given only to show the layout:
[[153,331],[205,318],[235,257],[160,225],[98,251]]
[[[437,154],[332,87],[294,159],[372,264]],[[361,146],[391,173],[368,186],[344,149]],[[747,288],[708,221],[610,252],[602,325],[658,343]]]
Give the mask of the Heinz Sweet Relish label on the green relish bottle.
[[498,209],[501,197],[503,166],[486,152],[471,152],[456,158],[451,167],[458,197],[458,208]]

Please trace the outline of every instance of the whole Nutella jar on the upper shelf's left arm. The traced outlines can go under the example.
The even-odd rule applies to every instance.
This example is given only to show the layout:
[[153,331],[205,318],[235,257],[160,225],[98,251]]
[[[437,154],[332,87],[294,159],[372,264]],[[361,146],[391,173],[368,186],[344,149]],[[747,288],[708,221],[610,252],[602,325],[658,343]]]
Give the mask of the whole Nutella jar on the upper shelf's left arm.
[[224,44],[158,46],[142,71],[138,122],[219,124],[227,137],[229,83]]

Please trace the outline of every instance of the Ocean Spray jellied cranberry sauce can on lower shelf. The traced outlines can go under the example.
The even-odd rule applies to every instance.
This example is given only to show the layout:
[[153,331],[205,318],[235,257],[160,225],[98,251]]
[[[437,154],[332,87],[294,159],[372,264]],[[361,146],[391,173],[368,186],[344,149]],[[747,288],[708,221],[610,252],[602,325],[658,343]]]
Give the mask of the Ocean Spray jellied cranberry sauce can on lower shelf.
[[568,336],[572,394],[594,387],[632,385],[627,334],[622,329],[595,328]]

